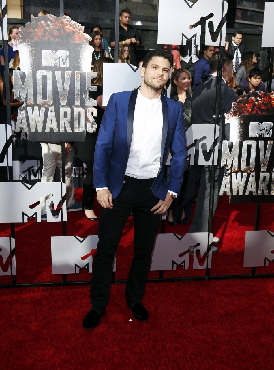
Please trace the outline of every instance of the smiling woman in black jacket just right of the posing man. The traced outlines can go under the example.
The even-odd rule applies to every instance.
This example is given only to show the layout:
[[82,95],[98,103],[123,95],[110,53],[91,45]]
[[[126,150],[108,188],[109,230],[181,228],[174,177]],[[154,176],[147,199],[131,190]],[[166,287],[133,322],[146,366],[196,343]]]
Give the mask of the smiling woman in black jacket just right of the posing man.
[[[191,74],[187,69],[179,68],[171,76],[171,98],[183,106],[185,129],[191,125]],[[174,199],[169,208],[168,221],[170,225],[188,223],[190,220],[193,201],[197,198],[200,176],[199,166],[190,166],[186,161],[184,179],[179,196]]]

